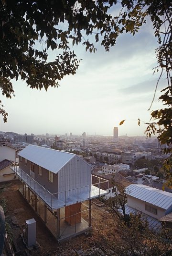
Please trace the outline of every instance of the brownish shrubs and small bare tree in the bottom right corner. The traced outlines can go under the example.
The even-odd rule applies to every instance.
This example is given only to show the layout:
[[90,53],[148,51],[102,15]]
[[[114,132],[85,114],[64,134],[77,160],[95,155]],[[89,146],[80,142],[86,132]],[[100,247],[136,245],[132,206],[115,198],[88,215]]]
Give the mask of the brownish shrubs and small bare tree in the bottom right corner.
[[142,213],[126,214],[126,189],[122,183],[115,183],[113,180],[111,182],[117,190],[113,197],[104,200],[108,210],[111,210],[112,218],[110,223],[99,223],[101,243],[118,256],[171,255],[171,231],[158,227],[151,229],[146,216]]

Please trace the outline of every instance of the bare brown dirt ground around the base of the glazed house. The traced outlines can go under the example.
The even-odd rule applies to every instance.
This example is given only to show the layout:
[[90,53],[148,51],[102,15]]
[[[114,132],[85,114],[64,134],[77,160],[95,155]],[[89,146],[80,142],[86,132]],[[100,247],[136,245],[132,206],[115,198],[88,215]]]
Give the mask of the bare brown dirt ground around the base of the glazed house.
[[[2,184],[0,184],[1,187]],[[98,207],[92,203],[92,230],[88,235],[82,234],[71,238],[63,243],[58,243],[54,236],[45,227],[32,207],[26,202],[18,191],[18,181],[6,183],[5,190],[0,194],[7,199],[6,220],[11,226],[11,236],[18,250],[21,250],[20,233],[21,226],[26,219],[34,218],[37,222],[37,242],[40,244],[39,250],[32,250],[30,255],[54,255],[54,256],[75,256],[78,250],[86,250],[90,247],[100,245],[98,225],[101,222],[110,220],[111,214],[106,207]],[[18,225],[12,223],[11,218],[17,219]],[[22,244],[23,246],[23,244]],[[19,254],[19,255],[22,255]],[[24,253],[23,253],[24,255]]]

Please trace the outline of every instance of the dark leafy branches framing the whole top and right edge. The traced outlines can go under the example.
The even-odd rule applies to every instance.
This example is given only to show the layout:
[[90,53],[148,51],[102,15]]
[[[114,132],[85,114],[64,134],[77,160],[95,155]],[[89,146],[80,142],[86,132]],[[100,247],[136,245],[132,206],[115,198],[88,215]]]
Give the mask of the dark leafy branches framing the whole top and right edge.
[[[114,5],[116,9],[114,9]],[[119,10],[119,12],[118,12]],[[114,17],[111,13],[117,12]],[[151,112],[147,136],[156,134],[164,153],[164,163],[172,178],[172,7],[169,0],[0,0],[0,88],[7,98],[14,96],[12,79],[26,81],[31,88],[58,87],[65,75],[75,74],[79,60],[70,45],[81,43],[95,52],[93,42],[101,42],[106,51],[123,32],[135,35],[147,17],[154,27],[160,47],[156,49],[155,72],[165,74],[166,85],[160,100],[164,109]],[[93,42],[92,42],[93,41]],[[40,49],[40,44],[42,49]],[[47,61],[47,50],[58,55]],[[157,82],[156,88],[158,86]],[[155,90],[156,92],[156,90]],[[153,97],[154,100],[154,97]],[[151,106],[150,106],[151,107]],[[150,109],[149,109],[150,110]],[[0,114],[7,112],[0,101]],[[124,121],[122,121],[124,122]],[[122,123],[121,122],[121,123]],[[140,125],[140,119],[139,119]]]

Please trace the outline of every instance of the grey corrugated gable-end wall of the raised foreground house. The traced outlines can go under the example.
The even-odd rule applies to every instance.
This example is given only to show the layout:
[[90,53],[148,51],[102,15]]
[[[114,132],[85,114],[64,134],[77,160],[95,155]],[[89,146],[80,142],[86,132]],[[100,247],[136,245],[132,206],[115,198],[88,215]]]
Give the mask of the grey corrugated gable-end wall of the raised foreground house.
[[76,188],[86,186],[80,190],[84,192],[88,191],[88,185],[91,185],[91,167],[77,156],[59,171],[59,192],[72,190],[69,195],[77,194]]

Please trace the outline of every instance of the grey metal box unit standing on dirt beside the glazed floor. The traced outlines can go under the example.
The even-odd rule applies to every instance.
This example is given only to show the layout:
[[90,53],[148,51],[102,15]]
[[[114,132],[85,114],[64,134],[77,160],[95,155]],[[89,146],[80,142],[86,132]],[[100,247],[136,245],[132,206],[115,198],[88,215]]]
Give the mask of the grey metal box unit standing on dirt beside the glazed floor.
[[28,219],[25,221],[26,229],[24,239],[28,247],[36,244],[36,220]]

